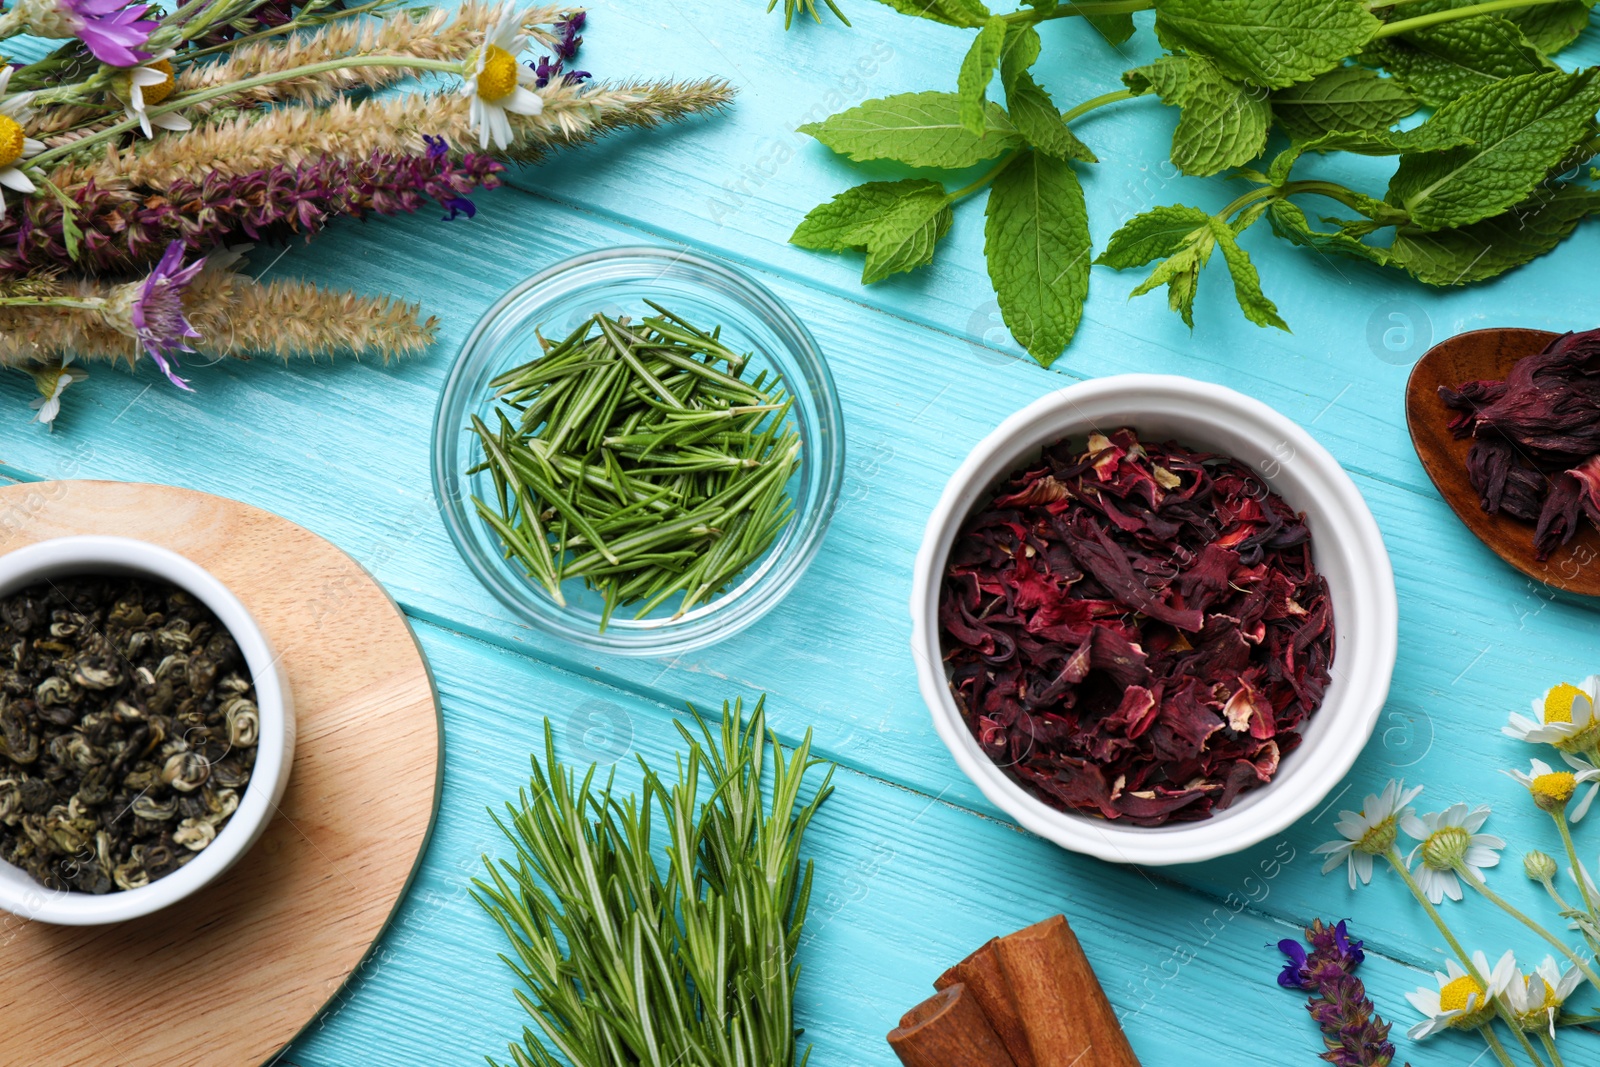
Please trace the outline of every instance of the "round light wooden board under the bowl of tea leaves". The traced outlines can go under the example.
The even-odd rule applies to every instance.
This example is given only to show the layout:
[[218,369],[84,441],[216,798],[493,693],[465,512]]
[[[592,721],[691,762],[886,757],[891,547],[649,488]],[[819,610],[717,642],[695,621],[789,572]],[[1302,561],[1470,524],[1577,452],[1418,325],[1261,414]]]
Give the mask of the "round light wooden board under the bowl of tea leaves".
[[166,545],[229,585],[288,669],[294,769],[256,846],[142,920],[0,913],[0,1064],[256,1067],[360,965],[427,843],[442,758],[405,616],[344,552],[248,504],[162,485],[0,488],[0,552],[64,534]]

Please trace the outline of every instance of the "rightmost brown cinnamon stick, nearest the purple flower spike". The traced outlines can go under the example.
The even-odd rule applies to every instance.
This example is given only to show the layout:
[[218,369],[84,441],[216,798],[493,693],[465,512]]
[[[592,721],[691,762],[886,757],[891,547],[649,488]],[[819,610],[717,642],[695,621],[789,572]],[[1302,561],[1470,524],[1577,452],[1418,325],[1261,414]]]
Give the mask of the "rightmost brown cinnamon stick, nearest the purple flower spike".
[[1139,1067],[1062,915],[995,944],[1035,1067]]

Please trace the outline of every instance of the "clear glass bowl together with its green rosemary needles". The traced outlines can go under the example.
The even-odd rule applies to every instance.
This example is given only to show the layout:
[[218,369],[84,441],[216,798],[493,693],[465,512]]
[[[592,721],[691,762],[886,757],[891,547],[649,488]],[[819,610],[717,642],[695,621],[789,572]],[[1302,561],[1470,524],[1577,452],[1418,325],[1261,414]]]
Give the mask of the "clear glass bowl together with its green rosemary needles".
[[659,248],[578,256],[478,323],[434,458],[462,557],[528,622],[667,654],[776,606],[837,501],[832,378],[768,290]]

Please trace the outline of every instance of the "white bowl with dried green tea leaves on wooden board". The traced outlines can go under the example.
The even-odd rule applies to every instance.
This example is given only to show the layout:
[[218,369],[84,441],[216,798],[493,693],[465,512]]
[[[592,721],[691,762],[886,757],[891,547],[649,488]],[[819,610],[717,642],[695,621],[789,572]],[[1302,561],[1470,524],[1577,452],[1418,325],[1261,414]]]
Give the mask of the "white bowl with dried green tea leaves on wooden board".
[[0,557],[0,909],[90,926],[198,893],[293,755],[282,664],[205,568],[112,536]]

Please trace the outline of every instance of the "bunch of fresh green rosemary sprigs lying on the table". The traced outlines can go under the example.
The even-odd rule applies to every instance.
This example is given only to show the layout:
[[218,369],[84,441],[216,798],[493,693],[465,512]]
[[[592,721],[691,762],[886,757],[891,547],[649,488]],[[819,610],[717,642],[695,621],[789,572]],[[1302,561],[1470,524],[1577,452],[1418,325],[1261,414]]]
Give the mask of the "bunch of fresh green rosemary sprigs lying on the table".
[[694,712],[699,739],[677,725],[677,781],[640,758],[643,790],[629,797],[597,782],[598,768],[563,766],[546,723],[544,765],[533,760],[528,789],[494,817],[515,861],[485,857],[488,880],[474,881],[538,1025],[509,1046],[515,1067],[805,1065],[794,990],[813,861],[800,846],[834,771],[802,803],[822,760],[810,731],[786,760],[763,705],[746,721],[741,701],[723,704],[718,731]]

